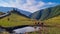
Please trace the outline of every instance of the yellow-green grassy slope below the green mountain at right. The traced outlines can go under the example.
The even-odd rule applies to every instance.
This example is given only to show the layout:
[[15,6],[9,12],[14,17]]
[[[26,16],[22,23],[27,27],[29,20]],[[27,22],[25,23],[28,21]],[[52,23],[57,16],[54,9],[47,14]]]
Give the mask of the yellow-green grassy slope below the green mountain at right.
[[60,25],[60,15],[48,20],[44,20],[44,22],[49,25]]

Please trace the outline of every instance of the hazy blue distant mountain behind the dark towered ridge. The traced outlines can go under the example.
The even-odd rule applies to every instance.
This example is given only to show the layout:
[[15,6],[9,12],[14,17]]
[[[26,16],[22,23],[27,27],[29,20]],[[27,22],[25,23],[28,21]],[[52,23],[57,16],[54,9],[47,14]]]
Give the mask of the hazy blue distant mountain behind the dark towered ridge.
[[21,10],[21,9],[18,9],[18,8],[14,8],[14,7],[0,7],[0,12],[5,12],[6,13],[6,12],[9,12],[9,11],[11,11],[13,9],[17,10],[19,13],[24,14],[24,15],[26,15],[28,17],[31,14],[28,11]]

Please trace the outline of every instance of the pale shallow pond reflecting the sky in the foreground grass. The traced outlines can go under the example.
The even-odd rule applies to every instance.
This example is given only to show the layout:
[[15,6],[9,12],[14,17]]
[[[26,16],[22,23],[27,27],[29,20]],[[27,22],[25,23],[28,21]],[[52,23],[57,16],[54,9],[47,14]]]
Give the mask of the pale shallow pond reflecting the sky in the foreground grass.
[[15,33],[25,33],[25,32],[34,32],[34,31],[38,31],[39,30],[39,27],[24,27],[24,28],[19,28],[19,29],[15,29],[13,30]]

